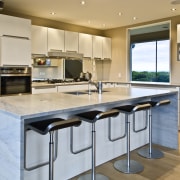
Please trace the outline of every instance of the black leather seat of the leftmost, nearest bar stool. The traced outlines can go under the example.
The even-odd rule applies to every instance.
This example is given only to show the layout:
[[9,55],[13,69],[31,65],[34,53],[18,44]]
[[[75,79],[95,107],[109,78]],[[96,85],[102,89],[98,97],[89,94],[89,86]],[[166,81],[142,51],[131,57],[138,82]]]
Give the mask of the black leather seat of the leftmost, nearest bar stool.
[[81,121],[79,119],[64,120],[61,118],[52,118],[44,121],[38,121],[30,123],[27,127],[42,135],[47,134],[50,131],[63,129],[71,126],[79,126]]

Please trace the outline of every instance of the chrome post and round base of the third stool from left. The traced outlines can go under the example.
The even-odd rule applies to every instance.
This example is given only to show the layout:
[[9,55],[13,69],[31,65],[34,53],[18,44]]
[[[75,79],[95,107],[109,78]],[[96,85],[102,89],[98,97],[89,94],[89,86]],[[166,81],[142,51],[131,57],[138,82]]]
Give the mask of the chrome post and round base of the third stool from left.
[[137,161],[130,160],[130,121],[128,114],[125,114],[126,134],[127,134],[127,159],[118,160],[114,163],[114,167],[123,173],[134,174],[144,170],[144,167]]

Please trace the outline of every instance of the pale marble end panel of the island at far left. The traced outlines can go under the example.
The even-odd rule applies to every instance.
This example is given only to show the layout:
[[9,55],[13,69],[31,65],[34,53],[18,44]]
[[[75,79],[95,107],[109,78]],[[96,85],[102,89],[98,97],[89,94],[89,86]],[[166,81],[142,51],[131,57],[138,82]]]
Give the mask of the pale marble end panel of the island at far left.
[[[0,112],[1,113],[1,112]],[[0,125],[0,179],[21,178],[21,122],[1,113]]]

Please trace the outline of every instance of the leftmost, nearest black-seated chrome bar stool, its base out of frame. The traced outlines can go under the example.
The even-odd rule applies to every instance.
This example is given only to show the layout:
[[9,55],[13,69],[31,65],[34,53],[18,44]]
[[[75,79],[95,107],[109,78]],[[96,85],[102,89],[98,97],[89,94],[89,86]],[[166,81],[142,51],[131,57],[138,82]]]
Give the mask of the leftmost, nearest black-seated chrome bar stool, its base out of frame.
[[[34,130],[35,132],[45,135],[49,132],[49,180],[54,179],[54,132],[58,129],[68,128],[71,126],[79,126],[81,121],[78,118],[72,118],[68,120],[64,120],[61,118],[52,118],[43,121],[32,122],[26,126],[26,129]],[[26,149],[25,149],[26,150]],[[26,164],[26,163],[25,163]],[[31,167],[29,170],[36,169],[45,164],[39,164],[37,166]],[[26,167],[26,165],[25,165]]]

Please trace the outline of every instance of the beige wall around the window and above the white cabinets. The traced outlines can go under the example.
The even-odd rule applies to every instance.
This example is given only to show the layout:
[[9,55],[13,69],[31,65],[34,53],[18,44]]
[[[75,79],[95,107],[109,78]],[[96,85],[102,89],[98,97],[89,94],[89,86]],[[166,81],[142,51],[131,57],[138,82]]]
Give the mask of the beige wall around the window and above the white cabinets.
[[[83,26],[76,26],[72,24],[51,21],[48,19],[37,18],[33,16],[25,16],[22,14],[17,14],[17,13],[12,13],[12,12],[7,12],[7,11],[3,11],[3,14],[29,18],[32,20],[32,24],[34,25],[41,25],[41,26],[47,26],[47,27],[58,28],[58,29],[63,29],[63,30],[111,37],[112,38],[112,62],[104,62],[103,65],[101,65],[99,62],[96,62],[97,78],[98,77],[102,78],[102,75],[103,75],[104,80],[116,80],[116,81],[122,81],[122,82],[129,81],[127,29],[136,27],[136,26],[143,26],[143,25],[170,20],[171,21],[171,83],[179,83],[180,61],[177,61],[177,24],[180,24],[180,16],[175,16],[172,18],[164,18],[160,20],[154,20],[154,21],[149,21],[145,23],[135,24],[132,26],[119,27],[119,28],[102,31],[98,29],[86,28]],[[103,70],[101,69],[102,67],[103,67]],[[85,71],[86,71],[86,68],[85,68]]]

